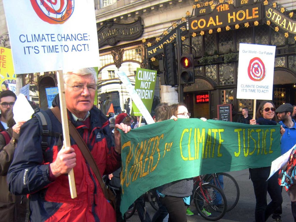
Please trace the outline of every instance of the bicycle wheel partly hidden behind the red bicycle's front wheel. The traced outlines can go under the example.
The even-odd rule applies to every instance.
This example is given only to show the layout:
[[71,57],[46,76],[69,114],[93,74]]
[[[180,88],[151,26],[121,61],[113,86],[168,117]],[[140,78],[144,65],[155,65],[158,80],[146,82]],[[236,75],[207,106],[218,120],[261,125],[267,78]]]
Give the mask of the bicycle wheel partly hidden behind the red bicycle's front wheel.
[[[228,173],[214,173],[207,178],[207,182],[213,183],[213,175],[215,176],[214,184],[225,194],[227,200],[226,211],[232,210],[239,201],[239,185],[237,181]],[[221,176],[223,176],[223,180]]]

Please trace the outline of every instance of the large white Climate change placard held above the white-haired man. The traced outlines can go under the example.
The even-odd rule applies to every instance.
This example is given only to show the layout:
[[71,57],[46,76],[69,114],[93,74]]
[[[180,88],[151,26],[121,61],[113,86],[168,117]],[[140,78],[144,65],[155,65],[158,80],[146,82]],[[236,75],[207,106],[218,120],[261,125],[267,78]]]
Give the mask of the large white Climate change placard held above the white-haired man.
[[97,67],[93,0],[3,0],[16,74]]

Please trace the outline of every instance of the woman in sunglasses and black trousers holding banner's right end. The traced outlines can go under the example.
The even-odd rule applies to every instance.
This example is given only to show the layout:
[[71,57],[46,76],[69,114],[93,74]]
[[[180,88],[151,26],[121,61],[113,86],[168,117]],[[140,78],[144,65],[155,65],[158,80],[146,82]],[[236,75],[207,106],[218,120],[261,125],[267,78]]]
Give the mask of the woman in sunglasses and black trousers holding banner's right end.
[[[256,112],[256,119],[257,120],[251,119],[250,124],[276,125],[278,119],[275,115],[274,104],[271,101],[261,102]],[[283,132],[283,129],[281,129],[281,134]],[[270,173],[270,166],[250,168],[249,171],[256,197],[255,221],[264,222],[283,202],[281,188],[278,183],[278,173],[274,173],[274,175],[266,181]],[[268,205],[266,199],[267,192],[271,197],[271,202]]]

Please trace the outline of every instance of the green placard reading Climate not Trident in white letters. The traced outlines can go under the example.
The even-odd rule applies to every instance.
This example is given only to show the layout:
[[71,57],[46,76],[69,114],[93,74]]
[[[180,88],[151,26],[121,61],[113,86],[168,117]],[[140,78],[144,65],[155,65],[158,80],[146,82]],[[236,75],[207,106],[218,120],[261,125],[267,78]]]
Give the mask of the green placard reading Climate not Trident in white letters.
[[[149,112],[151,112],[152,107],[156,74],[157,71],[154,70],[137,68],[135,90]],[[142,116],[134,101],[131,113],[133,116]]]

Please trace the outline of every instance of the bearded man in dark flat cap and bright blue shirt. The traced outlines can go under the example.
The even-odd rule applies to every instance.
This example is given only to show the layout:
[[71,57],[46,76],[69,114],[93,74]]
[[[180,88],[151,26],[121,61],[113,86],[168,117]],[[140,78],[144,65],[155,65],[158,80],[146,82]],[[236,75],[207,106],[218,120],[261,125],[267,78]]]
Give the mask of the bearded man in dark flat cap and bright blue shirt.
[[[284,154],[296,144],[296,124],[295,120],[292,119],[293,106],[290,103],[282,104],[276,109],[276,113],[279,118],[279,124],[285,129],[281,138],[281,154]],[[281,213],[282,209],[280,206],[274,211],[272,215],[273,220],[281,221]]]

